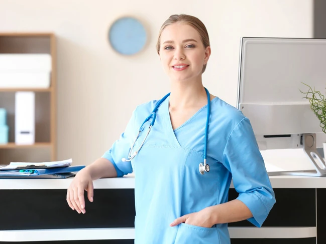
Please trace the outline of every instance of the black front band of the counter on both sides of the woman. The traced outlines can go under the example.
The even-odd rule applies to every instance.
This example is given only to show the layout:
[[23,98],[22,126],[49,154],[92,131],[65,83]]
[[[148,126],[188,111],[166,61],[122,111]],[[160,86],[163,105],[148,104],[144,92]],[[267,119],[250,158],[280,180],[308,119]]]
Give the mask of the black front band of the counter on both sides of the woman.
[[[278,188],[274,191],[277,202],[263,226],[316,226],[315,189]],[[95,189],[93,202],[86,199],[85,193],[86,214],[70,209],[64,189],[0,190],[0,196],[3,199],[0,209],[7,209],[0,211],[0,230],[134,227],[134,189]],[[237,196],[231,188],[229,200]],[[323,206],[319,210],[322,211]],[[253,225],[244,220],[229,226]]]

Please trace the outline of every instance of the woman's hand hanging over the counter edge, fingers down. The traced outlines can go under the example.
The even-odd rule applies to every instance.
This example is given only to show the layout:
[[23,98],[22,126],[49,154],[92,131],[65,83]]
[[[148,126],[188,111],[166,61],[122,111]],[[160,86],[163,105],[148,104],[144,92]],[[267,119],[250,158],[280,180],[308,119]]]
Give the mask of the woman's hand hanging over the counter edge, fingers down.
[[93,180],[86,168],[83,168],[76,174],[67,190],[68,205],[78,213],[86,212],[84,190],[87,191],[88,200],[93,201]]

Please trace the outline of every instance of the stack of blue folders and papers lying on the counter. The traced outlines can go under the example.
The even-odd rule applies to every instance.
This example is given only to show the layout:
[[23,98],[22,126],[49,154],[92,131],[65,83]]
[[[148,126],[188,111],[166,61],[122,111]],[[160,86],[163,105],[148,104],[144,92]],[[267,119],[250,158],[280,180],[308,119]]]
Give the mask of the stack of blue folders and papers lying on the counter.
[[71,166],[72,159],[26,163],[11,162],[5,167],[0,166],[0,179],[63,179],[74,176],[85,165]]

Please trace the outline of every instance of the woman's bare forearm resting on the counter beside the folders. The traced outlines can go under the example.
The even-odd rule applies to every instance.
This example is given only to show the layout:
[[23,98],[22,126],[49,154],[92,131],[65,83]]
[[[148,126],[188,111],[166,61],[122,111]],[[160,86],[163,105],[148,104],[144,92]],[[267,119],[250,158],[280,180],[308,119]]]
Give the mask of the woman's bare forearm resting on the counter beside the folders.
[[93,163],[82,170],[88,171],[92,180],[117,177],[115,166],[105,158],[96,159]]

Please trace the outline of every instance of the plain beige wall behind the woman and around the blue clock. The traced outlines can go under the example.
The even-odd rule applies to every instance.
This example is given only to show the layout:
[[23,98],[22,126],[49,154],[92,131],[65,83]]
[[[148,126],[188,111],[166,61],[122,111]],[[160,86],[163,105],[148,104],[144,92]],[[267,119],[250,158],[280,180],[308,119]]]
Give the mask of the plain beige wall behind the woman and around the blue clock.
[[[56,34],[58,159],[89,164],[119,137],[137,104],[169,91],[155,52],[169,15],[194,15],[206,25],[212,55],[204,85],[235,106],[240,37],[310,38],[312,7],[312,0],[0,0],[0,32]],[[135,57],[107,42],[110,24],[124,15],[148,28],[148,47]]]

